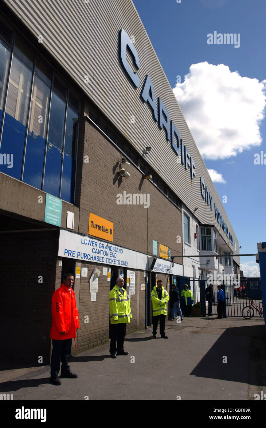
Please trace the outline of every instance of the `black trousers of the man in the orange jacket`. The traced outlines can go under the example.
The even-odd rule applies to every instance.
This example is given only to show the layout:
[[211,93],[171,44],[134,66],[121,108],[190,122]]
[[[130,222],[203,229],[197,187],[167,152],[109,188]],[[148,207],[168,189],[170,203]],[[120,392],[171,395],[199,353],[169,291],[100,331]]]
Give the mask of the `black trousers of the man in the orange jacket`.
[[58,376],[61,366],[61,375],[65,372],[70,372],[68,365],[71,354],[72,339],[56,340],[53,339],[53,351],[51,357],[51,377]]

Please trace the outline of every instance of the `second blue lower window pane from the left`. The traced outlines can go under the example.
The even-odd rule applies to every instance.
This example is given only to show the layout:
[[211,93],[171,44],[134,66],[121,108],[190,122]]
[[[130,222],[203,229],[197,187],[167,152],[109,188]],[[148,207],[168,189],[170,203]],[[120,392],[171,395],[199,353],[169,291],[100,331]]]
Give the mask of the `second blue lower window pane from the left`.
[[[30,134],[30,133],[29,133]],[[26,157],[24,163],[23,181],[41,189],[41,179],[44,166],[45,140],[40,135],[28,134]]]

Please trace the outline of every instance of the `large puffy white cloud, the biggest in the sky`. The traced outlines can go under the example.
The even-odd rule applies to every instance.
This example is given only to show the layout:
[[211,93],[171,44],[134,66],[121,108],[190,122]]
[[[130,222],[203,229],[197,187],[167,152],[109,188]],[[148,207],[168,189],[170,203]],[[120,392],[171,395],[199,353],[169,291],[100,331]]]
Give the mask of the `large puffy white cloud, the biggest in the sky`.
[[224,159],[260,145],[266,80],[205,61],[192,64],[173,92],[202,157]]

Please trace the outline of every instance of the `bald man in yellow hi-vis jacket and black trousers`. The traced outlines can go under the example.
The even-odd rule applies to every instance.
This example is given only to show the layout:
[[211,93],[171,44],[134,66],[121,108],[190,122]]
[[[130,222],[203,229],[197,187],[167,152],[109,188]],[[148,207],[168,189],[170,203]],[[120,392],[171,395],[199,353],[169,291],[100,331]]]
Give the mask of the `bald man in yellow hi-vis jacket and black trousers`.
[[126,336],[126,324],[130,322],[132,315],[129,297],[123,285],[123,278],[117,278],[117,285],[109,293],[111,320],[110,354],[112,358],[116,358],[117,355],[129,355],[124,350],[124,339]]

